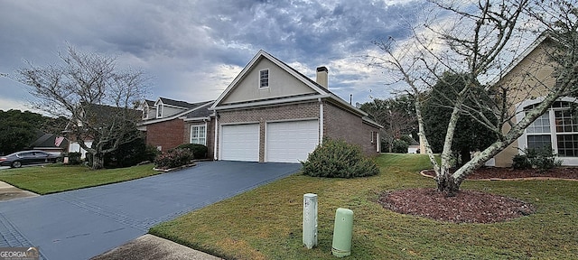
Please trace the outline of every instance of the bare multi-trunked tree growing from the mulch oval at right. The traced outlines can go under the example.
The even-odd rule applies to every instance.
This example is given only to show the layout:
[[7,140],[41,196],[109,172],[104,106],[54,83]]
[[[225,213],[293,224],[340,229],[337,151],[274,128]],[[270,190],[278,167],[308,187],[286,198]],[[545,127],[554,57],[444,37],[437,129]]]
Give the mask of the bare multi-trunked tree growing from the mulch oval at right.
[[[412,27],[411,41],[402,43],[390,38],[377,42],[386,55],[374,62],[404,82],[408,93],[417,100],[415,110],[419,135],[433,163],[437,189],[453,196],[461,181],[515,142],[557,98],[576,94],[578,12],[575,0],[538,0],[534,3],[529,0],[480,0],[473,5],[432,0],[430,3],[444,15],[427,17],[422,25]],[[445,23],[430,20],[439,17],[443,17]],[[528,32],[532,32],[534,37],[542,33],[551,39],[543,45],[541,51],[545,54],[540,56],[541,59],[533,60],[527,68],[520,69],[523,71],[518,72],[520,77],[517,80],[505,80],[506,65],[515,62]],[[553,80],[537,77],[538,70],[545,69],[553,71]],[[445,133],[442,160],[437,163],[424,135],[422,105],[427,98],[425,93],[431,91],[437,81],[444,80],[444,72],[461,75],[465,86],[451,100],[452,116]],[[520,100],[536,97],[540,97],[542,102],[535,107],[522,111],[512,108]],[[468,106],[466,100],[475,106]],[[471,116],[493,131],[498,141],[452,173],[452,141],[461,116]]]

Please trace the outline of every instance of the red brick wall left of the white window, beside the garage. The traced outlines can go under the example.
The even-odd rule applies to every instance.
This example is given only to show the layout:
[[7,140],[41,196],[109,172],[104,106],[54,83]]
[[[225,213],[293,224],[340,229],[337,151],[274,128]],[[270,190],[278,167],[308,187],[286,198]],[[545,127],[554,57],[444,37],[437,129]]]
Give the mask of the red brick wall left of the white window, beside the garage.
[[182,144],[184,122],[182,119],[172,119],[152,125],[146,125],[146,144],[161,146],[163,152]]

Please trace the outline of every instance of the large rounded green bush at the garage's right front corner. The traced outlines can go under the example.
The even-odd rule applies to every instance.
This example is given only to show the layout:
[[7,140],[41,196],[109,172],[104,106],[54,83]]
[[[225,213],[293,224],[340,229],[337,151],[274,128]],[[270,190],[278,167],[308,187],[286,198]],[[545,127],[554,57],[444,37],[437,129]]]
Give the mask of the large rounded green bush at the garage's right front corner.
[[303,174],[312,177],[355,178],[379,173],[378,165],[363,156],[361,148],[330,138],[309,154],[303,164]]

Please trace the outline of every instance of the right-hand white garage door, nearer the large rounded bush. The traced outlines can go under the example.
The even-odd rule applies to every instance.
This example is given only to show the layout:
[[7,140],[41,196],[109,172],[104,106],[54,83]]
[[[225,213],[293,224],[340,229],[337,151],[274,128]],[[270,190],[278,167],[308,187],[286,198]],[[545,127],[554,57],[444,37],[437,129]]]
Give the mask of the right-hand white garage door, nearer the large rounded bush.
[[317,120],[267,124],[266,161],[299,163],[319,144]]

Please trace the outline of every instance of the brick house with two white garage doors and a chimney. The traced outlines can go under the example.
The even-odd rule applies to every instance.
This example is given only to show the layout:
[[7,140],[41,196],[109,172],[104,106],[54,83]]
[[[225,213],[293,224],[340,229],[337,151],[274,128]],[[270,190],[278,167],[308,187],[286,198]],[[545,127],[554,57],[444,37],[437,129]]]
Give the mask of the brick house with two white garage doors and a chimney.
[[328,81],[325,67],[317,68],[314,81],[258,51],[210,107],[214,159],[298,163],[323,137],[378,154],[382,126],[331,93]]

